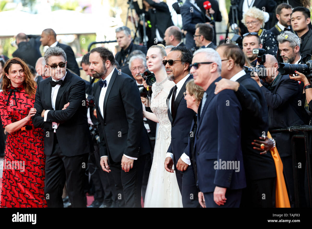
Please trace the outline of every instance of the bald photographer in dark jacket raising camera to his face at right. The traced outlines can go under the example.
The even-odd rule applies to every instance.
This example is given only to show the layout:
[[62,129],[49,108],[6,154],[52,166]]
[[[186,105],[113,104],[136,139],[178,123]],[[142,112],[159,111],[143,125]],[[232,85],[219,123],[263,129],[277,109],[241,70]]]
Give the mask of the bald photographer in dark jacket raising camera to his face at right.
[[[269,130],[287,128],[293,125],[308,124],[307,112],[301,101],[300,85],[297,81],[290,79],[289,75],[280,75],[277,71],[277,60],[272,55],[266,55],[266,79],[260,80],[256,75],[253,77],[258,83],[269,113]],[[276,147],[283,162],[283,173],[288,189],[291,207],[295,207],[295,188],[292,166],[292,144],[291,138],[295,132],[271,132],[276,141]],[[298,140],[298,139],[297,139]],[[299,141],[302,139],[299,139]],[[296,142],[296,141],[295,141]],[[296,154],[305,155],[304,142],[296,144]]]

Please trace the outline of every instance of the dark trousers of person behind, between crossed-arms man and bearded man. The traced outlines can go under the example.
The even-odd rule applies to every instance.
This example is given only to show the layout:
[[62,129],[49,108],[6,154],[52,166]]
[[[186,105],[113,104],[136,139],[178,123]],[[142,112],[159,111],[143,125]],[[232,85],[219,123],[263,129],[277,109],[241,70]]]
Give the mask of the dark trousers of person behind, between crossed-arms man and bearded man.
[[100,166],[99,146],[94,145],[94,149],[94,154],[90,155],[91,163],[94,165],[89,165],[95,167],[94,174],[91,176],[95,188],[94,199],[104,201],[106,205],[110,206],[112,202],[117,201],[114,178],[111,173],[103,171]]

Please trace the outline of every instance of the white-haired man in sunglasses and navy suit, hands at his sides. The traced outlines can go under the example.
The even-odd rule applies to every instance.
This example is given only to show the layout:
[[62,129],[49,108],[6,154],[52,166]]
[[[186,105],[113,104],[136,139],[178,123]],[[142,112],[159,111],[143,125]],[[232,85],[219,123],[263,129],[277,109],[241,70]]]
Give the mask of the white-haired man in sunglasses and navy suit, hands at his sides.
[[241,150],[241,104],[232,90],[214,94],[221,58],[211,48],[197,50],[191,72],[205,90],[198,107],[194,152],[202,207],[239,207],[246,187]]

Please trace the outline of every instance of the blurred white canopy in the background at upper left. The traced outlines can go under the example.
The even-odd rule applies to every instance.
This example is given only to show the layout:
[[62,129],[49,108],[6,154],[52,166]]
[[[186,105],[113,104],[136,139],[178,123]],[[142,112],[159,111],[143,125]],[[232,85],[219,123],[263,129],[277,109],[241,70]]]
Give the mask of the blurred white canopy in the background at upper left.
[[0,37],[12,37],[20,32],[41,35],[42,30],[52,28],[56,34],[90,34],[116,26],[115,18],[97,20],[100,15],[85,14],[71,10],[57,10],[44,14],[30,14],[22,11],[3,11],[4,22]]

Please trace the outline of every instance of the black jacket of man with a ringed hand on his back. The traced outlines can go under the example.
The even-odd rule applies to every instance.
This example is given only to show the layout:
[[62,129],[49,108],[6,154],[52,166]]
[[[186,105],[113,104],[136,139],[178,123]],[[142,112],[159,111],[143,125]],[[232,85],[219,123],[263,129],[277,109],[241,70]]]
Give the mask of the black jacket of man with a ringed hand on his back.
[[268,131],[268,109],[266,99],[250,74],[237,79],[240,87],[236,96],[241,103],[241,147],[246,179],[257,180],[276,177],[275,163],[271,153],[260,155],[251,142]]

